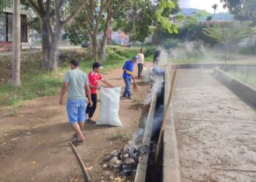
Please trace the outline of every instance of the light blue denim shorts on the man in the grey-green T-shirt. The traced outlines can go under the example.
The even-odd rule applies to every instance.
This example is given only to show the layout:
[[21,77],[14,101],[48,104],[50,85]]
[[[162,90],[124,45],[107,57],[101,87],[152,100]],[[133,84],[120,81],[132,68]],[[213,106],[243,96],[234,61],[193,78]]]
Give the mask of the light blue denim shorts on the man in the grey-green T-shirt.
[[67,100],[67,116],[69,123],[84,122],[86,120],[86,100],[74,99]]

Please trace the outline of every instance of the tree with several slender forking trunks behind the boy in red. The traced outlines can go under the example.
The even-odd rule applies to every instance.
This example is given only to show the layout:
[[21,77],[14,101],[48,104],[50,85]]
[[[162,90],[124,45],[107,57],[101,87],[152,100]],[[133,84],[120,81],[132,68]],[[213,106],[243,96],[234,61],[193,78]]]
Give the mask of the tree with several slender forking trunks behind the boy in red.
[[[94,61],[105,60],[105,47],[108,38],[108,28],[111,20],[122,7],[127,6],[133,0],[100,0],[89,1],[88,6],[75,17],[74,21],[65,27],[65,37],[68,37],[72,44],[80,44],[82,39],[87,41],[90,37],[92,42]],[[77,27],[75,30],[73,27]],[[99,40],[99,32],[103,32]],[[89,37],[88,37],[89,35]]]

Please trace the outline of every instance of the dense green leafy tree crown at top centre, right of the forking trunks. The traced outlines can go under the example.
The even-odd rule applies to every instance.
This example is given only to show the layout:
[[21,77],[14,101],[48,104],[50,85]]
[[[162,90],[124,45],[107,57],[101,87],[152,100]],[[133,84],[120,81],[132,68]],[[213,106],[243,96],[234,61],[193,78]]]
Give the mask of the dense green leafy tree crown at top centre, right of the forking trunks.
[[[135,1],[114,18],[115,29],[129,34],[130,41],[143,43],[153,32],[153,26],[164,29],[167,33],[178,33],[178,26],[170,22],[170,15],[179,11],[178,1],[159,0],[153,4],[152,1]],[[184,15],[176,15],[176,18],[182,20]]]

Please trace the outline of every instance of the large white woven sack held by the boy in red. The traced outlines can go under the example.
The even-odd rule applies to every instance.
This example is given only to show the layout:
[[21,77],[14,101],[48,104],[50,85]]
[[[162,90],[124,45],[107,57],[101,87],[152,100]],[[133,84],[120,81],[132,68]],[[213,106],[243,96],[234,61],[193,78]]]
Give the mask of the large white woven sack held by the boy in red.
[[118,116],[121,87],[103,88],[100,93],[100,111],[97,124],[121,127]]

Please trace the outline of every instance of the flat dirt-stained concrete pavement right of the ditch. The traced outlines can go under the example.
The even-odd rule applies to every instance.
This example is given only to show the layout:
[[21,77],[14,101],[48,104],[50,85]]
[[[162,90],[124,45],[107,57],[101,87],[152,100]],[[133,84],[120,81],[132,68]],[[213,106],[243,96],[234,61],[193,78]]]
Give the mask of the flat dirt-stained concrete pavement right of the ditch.
[[211,72],[177,72],[173,110],[181,181],[256,181],[256,111]]

